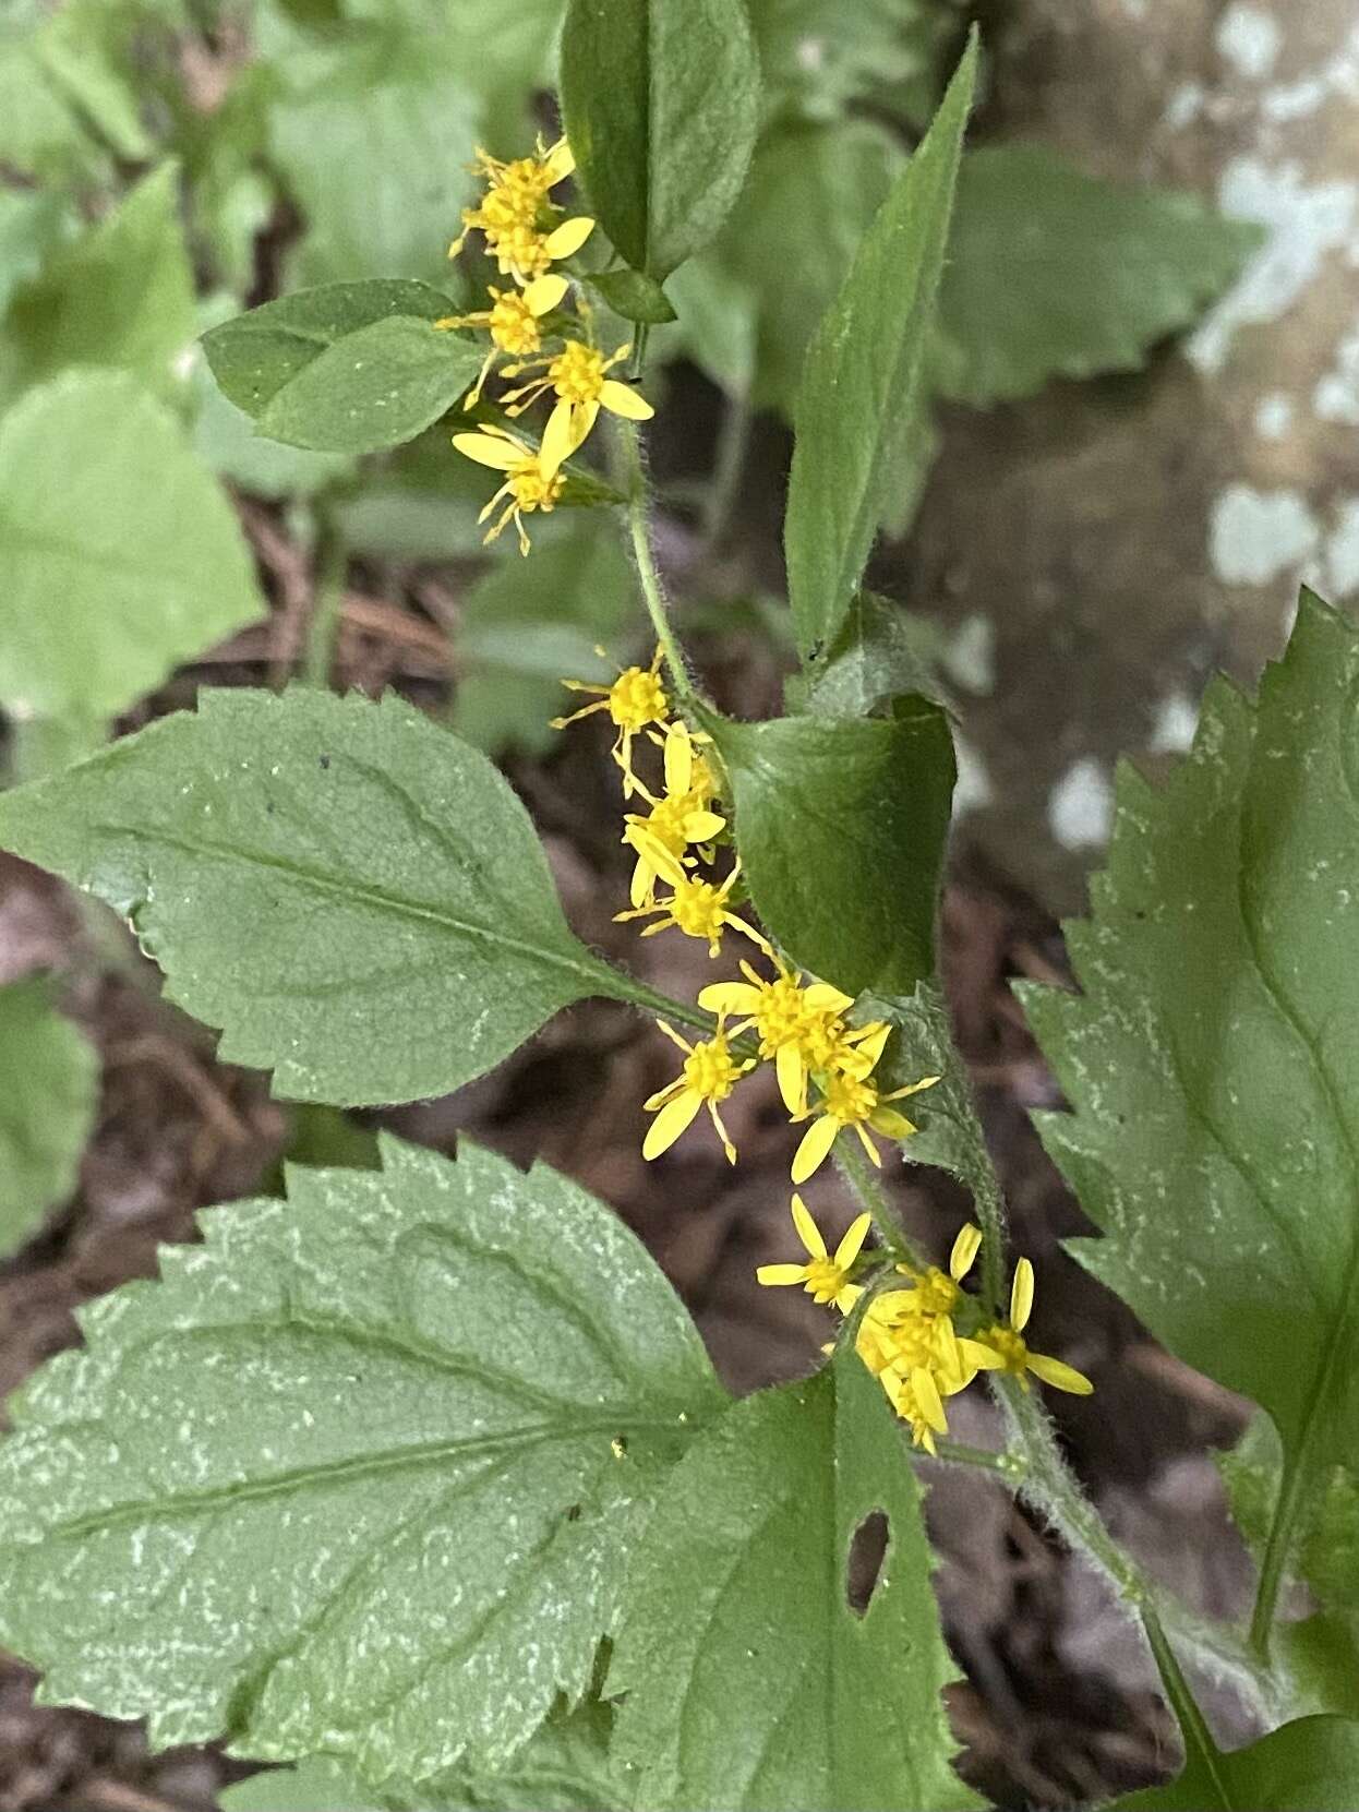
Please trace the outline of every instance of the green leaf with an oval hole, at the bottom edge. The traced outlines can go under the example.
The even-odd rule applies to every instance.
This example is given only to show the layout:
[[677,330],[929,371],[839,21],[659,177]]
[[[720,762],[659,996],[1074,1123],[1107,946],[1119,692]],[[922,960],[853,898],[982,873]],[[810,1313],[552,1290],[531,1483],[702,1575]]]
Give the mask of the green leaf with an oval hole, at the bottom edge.
[[[848,1604],[861,1522],[888,1518],[866,1613]],[[627,1582],[607,1692],[638,1805],[944,1812],[955,1678],[915,1479],[853,1354],[747,1397],[670,1475]]]

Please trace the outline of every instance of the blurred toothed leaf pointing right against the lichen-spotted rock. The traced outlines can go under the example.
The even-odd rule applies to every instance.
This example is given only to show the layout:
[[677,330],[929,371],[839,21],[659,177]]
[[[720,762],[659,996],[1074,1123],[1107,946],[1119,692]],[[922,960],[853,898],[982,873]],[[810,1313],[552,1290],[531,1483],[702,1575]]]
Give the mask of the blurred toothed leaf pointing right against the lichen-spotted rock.
[[935,382],[988,404],[1051,377],[1134,371],[1258,245],[1256,225],[1198,196],[1105,183],[1044,145],[973,150],[939,292]]

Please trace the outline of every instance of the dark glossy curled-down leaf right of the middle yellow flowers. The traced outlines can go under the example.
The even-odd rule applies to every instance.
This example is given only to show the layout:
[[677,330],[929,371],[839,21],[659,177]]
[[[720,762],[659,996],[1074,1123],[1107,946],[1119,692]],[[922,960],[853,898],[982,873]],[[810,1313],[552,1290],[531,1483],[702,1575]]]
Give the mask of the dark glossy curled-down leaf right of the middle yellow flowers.
[[922,698],[863,721],[712,719],[750,899],[794,964],[850,995],[933,973],[953,805],[948,719]]

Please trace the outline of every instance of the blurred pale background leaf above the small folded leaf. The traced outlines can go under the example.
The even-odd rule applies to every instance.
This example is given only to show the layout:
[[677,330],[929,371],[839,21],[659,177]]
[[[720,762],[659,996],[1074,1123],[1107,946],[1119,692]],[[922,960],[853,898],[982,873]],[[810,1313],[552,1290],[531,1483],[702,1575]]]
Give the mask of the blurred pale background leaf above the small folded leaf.
[[464,62],[437,34],[375,31],[277,65],[270,150],[308,225],[290,286],[446,268],[475,187]]

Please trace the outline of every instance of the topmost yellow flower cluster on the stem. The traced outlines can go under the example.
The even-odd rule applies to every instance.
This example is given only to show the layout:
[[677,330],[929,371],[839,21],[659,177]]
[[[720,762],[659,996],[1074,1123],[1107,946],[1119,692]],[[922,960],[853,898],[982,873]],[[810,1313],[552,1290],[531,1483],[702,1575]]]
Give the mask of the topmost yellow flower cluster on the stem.
[[507,390],[498,399],[511,420],[536,402],[553,399],[536,446],[496,426],[453,435],[458,453],[506,475],[482,511],[486,520],[506,500],[500,516],[486,531],[486,540],[495,540],[513,522],[520,553],[529,551],[524,516],[535,511],[547,515],[556,507],[564,491],[562,466],[589,439],[600,410],[634,422],[645,422],[652,415],[651,404],[636,390],[609,375],[632,348],[620,346],[609,355],[600,352],[591,337],[589,310],[578,304],[576,315],[571,315],[573,284],[551,268],[573,257],[594,230],[587,214],[564,217],[564,210],[551,199],[553,188],[574,167],[564,138],[551,147],[540,140],[536,156],[516,158],[513,163],[477,152],[475,169],[486,183],[486,194],[475,208],[464,208],[462,232],[448,255],[457,257],[467,234],[480,232],[487,254],[511,279],[511,286],[498,290],[491,284],[487,308],[446,315],[435,323],[440,328],[475,328],[489,337],[480,375],[467,391],[464,408],[477,408],[487,379],[504,359],[513,362],[502,364],[502,377],[529,377],[527,384]]

